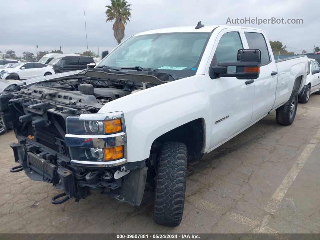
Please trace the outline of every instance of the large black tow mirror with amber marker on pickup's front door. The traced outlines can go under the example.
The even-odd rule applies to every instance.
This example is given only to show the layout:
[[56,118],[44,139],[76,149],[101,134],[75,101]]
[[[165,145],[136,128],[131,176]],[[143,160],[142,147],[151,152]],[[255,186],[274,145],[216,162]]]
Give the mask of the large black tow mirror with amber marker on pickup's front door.
[[[212,66],[209,75],[212,79],[217,77],[236,77],[237,79],[257,79],[260,73],[261,52],[259,49],[240,49],[236,62],[219,62]],[[228,66],[236,66],[236,72],[228,71]]]

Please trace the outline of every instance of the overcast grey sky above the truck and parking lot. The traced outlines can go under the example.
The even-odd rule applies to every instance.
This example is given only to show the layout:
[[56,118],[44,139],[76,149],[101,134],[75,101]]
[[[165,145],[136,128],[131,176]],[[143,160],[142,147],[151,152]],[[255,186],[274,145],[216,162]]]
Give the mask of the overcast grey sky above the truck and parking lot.
[[[320,45],[320,11],[318,1],[208,1],[208,0],[128,0],[132,4],[131,21],[125,26],[125,38],[137,32],[196,25],[225,25],[230,18],[271,17],[303,19],[303,24],[236,24],[264,29],[269,40],[279,40],[289,46],[286,50],[312,52]],[[113,23],[106,23],[105,5],[109,0],[8,1],[1,0],[0,51],[84,52],[84,10],[89,50],[112,50],[116,45]],[[124,39],[125,39],[124,38]],[[292,48],[293,47],[293,48]],[[299,48],[299,49],[294,49]]]

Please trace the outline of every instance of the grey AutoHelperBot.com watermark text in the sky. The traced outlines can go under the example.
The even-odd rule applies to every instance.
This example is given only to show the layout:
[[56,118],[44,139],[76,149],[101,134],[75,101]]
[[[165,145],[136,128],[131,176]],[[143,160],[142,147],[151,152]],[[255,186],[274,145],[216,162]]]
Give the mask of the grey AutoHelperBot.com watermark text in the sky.
[[303,19],[297,18],[230,18],[228,17],[226,24],[303,24]]

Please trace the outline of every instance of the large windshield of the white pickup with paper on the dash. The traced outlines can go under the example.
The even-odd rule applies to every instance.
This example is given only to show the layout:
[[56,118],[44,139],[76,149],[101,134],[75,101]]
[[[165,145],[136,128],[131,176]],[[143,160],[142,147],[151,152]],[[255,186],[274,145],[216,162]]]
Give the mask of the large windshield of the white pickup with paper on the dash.
[[[162,33],[131,37],[99,66],[153,68],[175,77],[196,74],[211,33]],[[51,62],[50,62],[51,63]]]

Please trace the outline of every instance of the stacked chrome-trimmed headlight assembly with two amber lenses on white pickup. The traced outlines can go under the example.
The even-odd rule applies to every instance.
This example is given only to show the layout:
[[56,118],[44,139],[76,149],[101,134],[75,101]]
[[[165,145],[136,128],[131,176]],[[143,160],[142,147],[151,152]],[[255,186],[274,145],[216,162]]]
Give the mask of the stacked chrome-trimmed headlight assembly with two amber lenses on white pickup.
[[66,125],[65,137],[71,162],[103,164],[121,159],[126,161],[126,131],[122,112],[69,116]]

